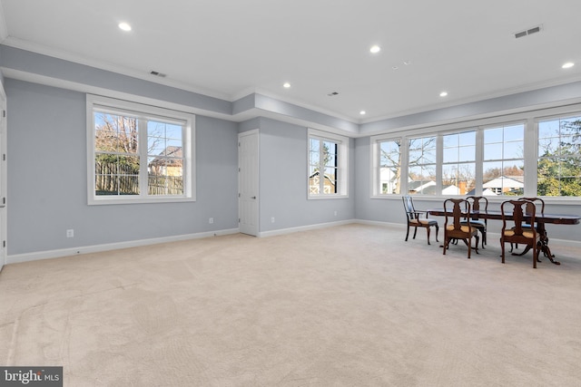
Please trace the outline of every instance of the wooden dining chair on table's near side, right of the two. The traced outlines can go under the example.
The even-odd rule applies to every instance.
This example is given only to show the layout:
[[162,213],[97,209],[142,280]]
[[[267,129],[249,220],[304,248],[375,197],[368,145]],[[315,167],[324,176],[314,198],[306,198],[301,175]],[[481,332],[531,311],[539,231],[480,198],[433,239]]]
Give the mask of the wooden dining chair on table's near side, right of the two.
[[[537,244],[539,235],[535,227],[537,208],[534,202],[524,199],[506,200],[500,205],[502,229],[500,230],[500,248],[502,263],[505,263],[505,244],[523,244],[533,250],[533,267],[537,268]],[[512,220],[507,217],[512,217]],[[526,218],[527,217],[527,220]],[[527,224],[529,225],[527,227]]]

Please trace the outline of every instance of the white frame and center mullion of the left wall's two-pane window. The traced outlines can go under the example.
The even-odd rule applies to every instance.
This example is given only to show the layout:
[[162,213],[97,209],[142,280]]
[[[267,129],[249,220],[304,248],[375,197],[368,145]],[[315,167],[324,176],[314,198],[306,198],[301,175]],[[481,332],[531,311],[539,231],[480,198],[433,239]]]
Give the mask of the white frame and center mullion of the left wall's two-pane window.
[[[147,147],[139,146],[138,156],[141,160],[140,194],[139,195],[95,195],[95,144],[94,112],[110,111],[113,114],[127,114],[144,119],[181,123],[184,131],[183,140],[183,194],[182,195],[149,195],[147,189]],[[87,94],[86,96],[86,133],[87,133],[87,202],[89,205],[143,204],[195,201],[195,116],[184,111],[174,111],[137,102],[116,100],[113,98]],[[139,131],[138,143],[147,144],[147,131]],[[143,189],[144,188],[144,189]]]

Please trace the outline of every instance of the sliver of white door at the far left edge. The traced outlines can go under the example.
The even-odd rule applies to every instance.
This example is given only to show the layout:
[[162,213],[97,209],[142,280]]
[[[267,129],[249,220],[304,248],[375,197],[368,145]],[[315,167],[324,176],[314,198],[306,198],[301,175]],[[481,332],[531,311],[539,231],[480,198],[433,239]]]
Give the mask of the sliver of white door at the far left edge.
[[0,270],[6,263],[6,95],[0,84]]

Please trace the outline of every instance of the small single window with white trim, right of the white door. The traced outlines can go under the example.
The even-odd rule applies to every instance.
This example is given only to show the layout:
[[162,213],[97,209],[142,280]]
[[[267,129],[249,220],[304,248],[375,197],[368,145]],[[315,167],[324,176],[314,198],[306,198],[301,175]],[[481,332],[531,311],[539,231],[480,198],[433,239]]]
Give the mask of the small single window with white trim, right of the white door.
[[308,197],[344,198],[348,195],[349,139],[309,130]]

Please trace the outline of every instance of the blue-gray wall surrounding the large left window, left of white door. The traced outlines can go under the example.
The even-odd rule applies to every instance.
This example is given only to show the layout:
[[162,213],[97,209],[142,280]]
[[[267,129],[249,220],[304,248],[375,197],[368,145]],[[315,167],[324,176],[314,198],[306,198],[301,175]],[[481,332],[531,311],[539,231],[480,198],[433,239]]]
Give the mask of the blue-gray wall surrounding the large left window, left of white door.
[[195,202],[88,206],[84,93],[11,79],[5,91],[9,255],[238,227],[236,123],[197,116]]

